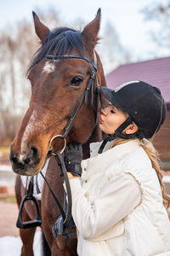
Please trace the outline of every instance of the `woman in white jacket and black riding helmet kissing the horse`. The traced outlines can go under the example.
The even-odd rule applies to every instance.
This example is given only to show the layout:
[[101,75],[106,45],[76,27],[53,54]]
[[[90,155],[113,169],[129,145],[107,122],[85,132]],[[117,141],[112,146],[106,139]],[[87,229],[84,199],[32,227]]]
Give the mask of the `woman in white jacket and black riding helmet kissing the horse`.
[[148,140],[166,118],[161,92],[132,81],[116,90],[103,87],[102,93],[109,103],[101,110],[99,127],[109,136],[91,144],[87,160],[82,160],[81,145],[65,149],[77,253],[170,255],[170,199],[163,190],[156,150]]

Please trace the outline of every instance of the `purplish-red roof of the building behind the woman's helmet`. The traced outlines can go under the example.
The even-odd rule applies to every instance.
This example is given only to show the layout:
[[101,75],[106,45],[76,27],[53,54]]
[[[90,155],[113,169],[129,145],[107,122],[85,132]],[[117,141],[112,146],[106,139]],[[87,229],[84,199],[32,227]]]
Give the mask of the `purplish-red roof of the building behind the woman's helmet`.
[[121,65],[106,75],[111,89],[133,80],[158,87],[165,101],[170,102],[170,57]]

